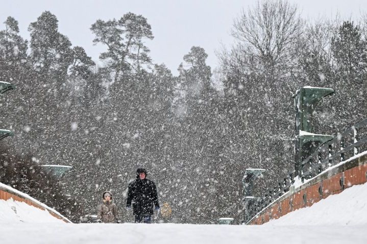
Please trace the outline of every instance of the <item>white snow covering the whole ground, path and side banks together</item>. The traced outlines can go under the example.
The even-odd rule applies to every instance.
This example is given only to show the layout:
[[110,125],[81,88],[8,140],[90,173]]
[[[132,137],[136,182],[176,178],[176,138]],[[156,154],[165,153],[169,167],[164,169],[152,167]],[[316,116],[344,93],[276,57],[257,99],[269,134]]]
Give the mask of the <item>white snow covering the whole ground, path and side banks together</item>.
[[[4,202],[0,214],[13,204]],[[26,208],[18,205],[22,207]],[[41,215],[39,222],[45,223],[27,223],[16,218],[4,221],[4,215],[0,215],[0,243],[366,243],[367,184],[261,226],[65,224],[57,219],[50,223]]]

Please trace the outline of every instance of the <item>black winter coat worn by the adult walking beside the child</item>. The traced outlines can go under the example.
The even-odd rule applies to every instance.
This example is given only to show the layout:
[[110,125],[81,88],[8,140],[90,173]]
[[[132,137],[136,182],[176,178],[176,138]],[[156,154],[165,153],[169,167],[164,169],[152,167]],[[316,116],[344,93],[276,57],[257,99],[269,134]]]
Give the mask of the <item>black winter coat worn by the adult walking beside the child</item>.
[[153,205],[159,208],[156,184],[148,179],[131,182],[126,207],[130,207],[131,203],[134,215],[153,215]]

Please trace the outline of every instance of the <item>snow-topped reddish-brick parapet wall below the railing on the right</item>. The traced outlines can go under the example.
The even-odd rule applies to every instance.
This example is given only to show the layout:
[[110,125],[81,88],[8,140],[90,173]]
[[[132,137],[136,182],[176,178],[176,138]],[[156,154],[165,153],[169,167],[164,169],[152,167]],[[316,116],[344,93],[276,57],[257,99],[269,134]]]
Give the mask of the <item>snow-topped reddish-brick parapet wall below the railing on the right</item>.
[[247,225],[261,225],[300,208],[367,182],[367,151],[324,170],[300,185],[290,186],[289,191],[264,207]]

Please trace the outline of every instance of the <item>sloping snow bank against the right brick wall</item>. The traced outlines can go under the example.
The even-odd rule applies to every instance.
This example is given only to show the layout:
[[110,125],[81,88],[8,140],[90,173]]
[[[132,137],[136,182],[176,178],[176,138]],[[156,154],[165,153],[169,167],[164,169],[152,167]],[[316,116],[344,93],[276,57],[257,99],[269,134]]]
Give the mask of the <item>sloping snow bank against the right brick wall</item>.
[[367,225],[367,183],[352,186],[264,225]]

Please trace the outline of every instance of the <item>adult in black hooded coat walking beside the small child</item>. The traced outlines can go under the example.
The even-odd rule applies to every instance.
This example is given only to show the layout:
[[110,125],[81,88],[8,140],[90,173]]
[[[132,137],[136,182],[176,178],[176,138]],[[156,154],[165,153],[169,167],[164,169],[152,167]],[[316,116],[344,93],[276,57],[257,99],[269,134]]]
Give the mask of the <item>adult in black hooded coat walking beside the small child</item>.
[[156,184],[146,179],[146,175],[145,168],[138,168],[136,180],[129,184],[126,208],[129,210],[133,204],[135,223],[150,224],[154,214],[153,207],[159,210]]

